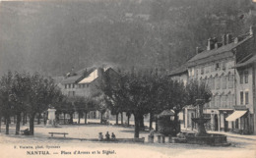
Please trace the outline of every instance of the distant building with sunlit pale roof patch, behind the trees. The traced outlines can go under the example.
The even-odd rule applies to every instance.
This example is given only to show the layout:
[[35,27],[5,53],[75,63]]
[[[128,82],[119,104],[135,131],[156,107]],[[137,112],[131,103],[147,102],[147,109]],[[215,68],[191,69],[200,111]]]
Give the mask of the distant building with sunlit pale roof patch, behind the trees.
[[[102,76],[110,77],[110,80],[119,78],[119,74],[112,68],[86,68],[77,72],[73,70],[68,73],[64,79],[62,79],[58,85],[64,95],[67,96],[83,96],[93,97],[98,90],[98,83]],[[55,78],[59,79],[60,78]],[[77,118],[75,113],[74,118]],[[98,119],[100,114],[98,111],[92,111],[89,113],[89,118]],[[110,111],[106,111],[105,117],[111,117]]]

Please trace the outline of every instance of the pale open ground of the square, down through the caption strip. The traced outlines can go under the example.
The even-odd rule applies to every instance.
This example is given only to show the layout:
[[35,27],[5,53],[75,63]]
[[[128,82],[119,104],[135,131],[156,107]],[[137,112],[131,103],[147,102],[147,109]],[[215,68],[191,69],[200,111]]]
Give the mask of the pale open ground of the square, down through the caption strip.
[[[27,127],[22,127],[26,129]],[[96,138],[98,132],[115,132],[117,137],[133,137],[133,128],[115,126],[61,126],[61,128],[44,128],[35,126],[34,136],[14,135],[15,126],[10,127],[10,135],[0,134],[0,157],[157,157],[157,158],[255,158],[255,135],[231,135],[228,147],[213,147],[182,143],[113,143],[93,142],[72,139],[48,138],[48,132],[69,132],[68,137]],[[147,137],[143,132],[140,137]],[[61,137],[61,136],[59,136]],[[255,139],[254,139],[255,138]],[[146,139],[147,141],[147,139]],[[36,148],[36,145],[42,148]],[[57,147],[57,148],[56,148]],[[32,151],[47,151],[49,155],[31,155]],[[83,154],[77,154],[80,151]],[[96,153],[94,153],[96,151]],[[28,153],[29,152],[29,153]],[[56,152],[56,153],[55,153]],[[74,154],[76,152],[76,154]],[[110,154],[106,155],[109,152]],[[41,152],[42,154],[42,152]]]

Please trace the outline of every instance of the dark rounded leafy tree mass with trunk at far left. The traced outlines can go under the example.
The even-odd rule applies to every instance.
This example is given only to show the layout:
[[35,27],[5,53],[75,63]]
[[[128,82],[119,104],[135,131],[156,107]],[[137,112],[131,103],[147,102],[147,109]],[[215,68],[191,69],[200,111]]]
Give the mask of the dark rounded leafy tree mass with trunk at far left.
[[[50,104],[55,104],[62,97],[60,89],[53,79],[46,79],[35,73],[14,75],[8,72],[0,80],[1,109],[7,117],[21,112],[29,114],[30,132],[33,134],[33,119],[36,113],[42,113]],[[20,123],[20,121],[19,121]]]

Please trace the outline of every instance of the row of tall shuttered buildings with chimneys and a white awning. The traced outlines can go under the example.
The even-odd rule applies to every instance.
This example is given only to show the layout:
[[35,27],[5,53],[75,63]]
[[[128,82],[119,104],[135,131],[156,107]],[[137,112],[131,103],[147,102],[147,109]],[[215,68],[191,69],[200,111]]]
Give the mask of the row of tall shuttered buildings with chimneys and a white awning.
[[[232,129],[244,132],[255,132],[255,92],[253,93],[255,73],[253,67],[245,71],[239,65],[252,60],[256,54],[256,29],[232,38],[224,34],[222,41],[217,38],[208,40],[207,50],[196,49],[197,54],[186,62],[186,71],[179,74],[171,73],[172,79],[197,79],[205,81],[211,88],[211,102],[205,105],[204,114],[211,118],[207,129],[212,131],[230,131]],[[249,61],[250,61],[249,60]],[[251,66],[251,65],[250,65]],[[242,77],[240,79],[240,77]],[[247,83],[238,84],[238,81]],[[251,81],[250,81],[251,80]],[[251,100],[251,101],[250,101]],[[241,104],[240,104],[241,103]],[[241,106],[242,105],[242,106]],[[196,109],[188,106],[184,110],[184,127],[193,128],[191,118],[196,117]],[[245,118],[245,119],[244,119]]]

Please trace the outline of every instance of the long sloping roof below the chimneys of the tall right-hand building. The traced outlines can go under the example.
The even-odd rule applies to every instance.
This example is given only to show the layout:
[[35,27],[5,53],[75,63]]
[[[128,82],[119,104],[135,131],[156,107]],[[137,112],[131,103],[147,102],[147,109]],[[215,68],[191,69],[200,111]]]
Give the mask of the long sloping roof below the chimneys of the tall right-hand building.
[[[193,58],[191,58],[187,63],[188,66],[194,66],[197,64],[202,64],[214,60],[219,60],[227,57],[233,56],[233,53],[231,52],[232,49],[239,46],[240,44],[244,43],[245,41],[249,40],[252,36],[249,36],[238,43],[231,42],[229,44],[226,44],[218,49],[212,49],[212,50],[205,50],[197,55],[195,55]],[[211,57],[211,58],[210,58]]]

